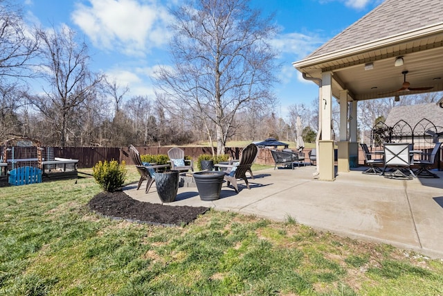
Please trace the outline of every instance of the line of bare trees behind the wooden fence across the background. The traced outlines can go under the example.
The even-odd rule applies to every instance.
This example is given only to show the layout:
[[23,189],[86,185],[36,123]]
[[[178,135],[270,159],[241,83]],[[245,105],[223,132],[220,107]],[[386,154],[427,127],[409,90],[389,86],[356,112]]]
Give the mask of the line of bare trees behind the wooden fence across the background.
[[[207,141],[224,151],[228,139],[295,141],[297,116],[305,141],[315,141],[318,99],[287,107],[285,118],[276,112],[272,16],[247,0],[192,4],[172,11],[173,64],[156,71],[152,98],[129,97],[127,86],[91,71],[88,46],[72,28],[30,27],[18,6],[0,0],[0,141],[24,136],[61,147]],[[433,93],[359,102],[359,129],[370,130],[396,104],[438,99]],[[333,118],[338,131],[337,104]]]

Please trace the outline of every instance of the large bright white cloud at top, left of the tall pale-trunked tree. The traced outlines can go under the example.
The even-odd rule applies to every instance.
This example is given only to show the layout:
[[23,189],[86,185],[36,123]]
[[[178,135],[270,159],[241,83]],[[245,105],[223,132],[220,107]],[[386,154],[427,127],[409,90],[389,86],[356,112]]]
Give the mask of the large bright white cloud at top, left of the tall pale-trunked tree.
[[89,2],[91,6],[76,4],[71,18],[100,49],[143,56],[168,40],[170,16],[163,6],[136,0]]

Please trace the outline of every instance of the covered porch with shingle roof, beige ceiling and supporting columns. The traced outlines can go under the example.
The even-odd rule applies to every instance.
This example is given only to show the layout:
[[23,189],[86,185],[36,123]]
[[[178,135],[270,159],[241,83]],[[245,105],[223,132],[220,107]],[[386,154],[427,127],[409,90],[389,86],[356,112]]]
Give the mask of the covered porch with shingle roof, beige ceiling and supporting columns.
[[[293,63],[318,85],[319,125],[316,141],[320,180],[335,180],[350,171],[358,155],[357,106],[360,101],[443,91],[443,2],[386,0]],[[392,17],[395,16],[395,17]],[[334,170],[332,98],[340,104],[338,170]],[[442,104],[440,104],[442,105]],[[443,107],[440,106],[440,107]]]

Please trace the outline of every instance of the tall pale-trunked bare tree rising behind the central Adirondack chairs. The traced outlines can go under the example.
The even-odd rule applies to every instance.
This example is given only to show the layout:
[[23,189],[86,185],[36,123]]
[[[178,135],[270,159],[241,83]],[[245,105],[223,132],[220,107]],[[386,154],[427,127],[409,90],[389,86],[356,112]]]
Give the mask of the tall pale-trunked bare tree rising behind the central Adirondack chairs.
[[[194,110],[208,137],[215,125],[217,154],[224,153],[236,112],[253,101],[272,102],[277,53],[270,45],[272,17],[248,0],[197,0],[173,12],[173,69],[157,72],[157,85],[173,105]],[[189,114],[185,112],[185,114]]]

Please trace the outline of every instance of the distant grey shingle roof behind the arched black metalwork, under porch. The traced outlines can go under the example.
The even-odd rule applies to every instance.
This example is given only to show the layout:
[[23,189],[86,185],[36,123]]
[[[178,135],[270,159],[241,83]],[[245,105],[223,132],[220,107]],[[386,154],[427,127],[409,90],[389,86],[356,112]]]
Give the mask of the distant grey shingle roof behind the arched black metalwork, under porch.
[[385,124],[392,127],[401,119],[406,121],[411,128],[414,128],[422,119],[428,119],[437,127],[437,130],[442,130],[443,108],[435,103],[393,107],[388,114],[388,118],[386,118]]

